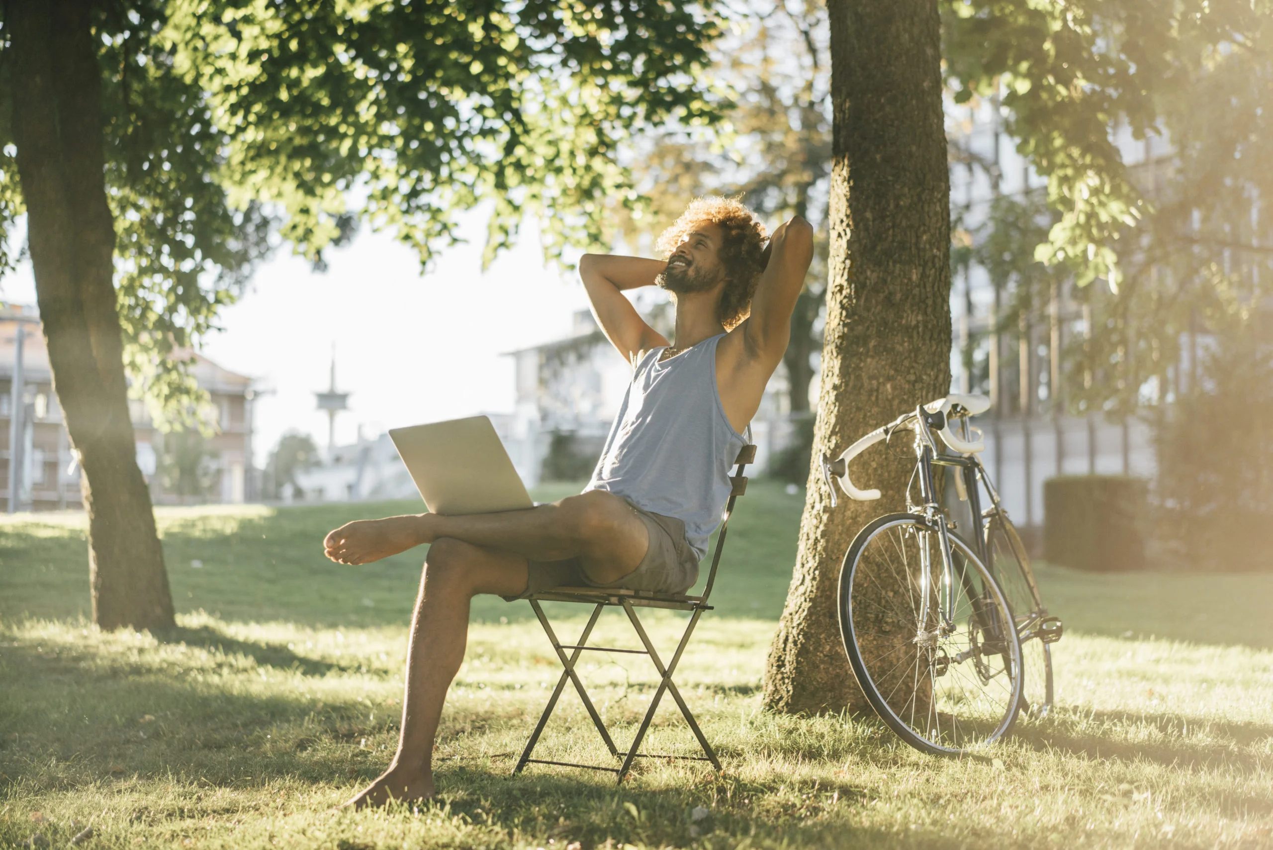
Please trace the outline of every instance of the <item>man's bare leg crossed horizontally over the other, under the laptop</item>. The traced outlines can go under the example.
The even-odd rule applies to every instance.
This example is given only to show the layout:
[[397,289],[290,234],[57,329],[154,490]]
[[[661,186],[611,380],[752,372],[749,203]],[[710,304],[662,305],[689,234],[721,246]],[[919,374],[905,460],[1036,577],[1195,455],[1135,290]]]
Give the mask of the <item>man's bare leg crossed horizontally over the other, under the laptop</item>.
[[593,490],[531,510],[354,522],[327,534],[323,547],[334,561],[368,564],[440,537],[533,561],[579,557],[588,575],[602,583],[635,570],[649,545],[645,524],[626,501]]

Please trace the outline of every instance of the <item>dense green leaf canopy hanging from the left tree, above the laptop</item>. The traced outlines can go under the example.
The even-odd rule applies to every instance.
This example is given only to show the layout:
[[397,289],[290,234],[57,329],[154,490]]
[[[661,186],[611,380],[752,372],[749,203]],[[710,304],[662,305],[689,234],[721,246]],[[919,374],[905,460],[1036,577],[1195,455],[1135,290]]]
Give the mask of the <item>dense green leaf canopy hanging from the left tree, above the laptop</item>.
[[[280,238],[321,265],[367,220],[426,262],[488,204],[488,258],[526,215],[555,253],[635,200],[633,127],[715,117],[710,0],[140,0],[93,28],[127,359],[169,417],[197,398],[173,352]],[[0,112],[8,235],[24,207]]]

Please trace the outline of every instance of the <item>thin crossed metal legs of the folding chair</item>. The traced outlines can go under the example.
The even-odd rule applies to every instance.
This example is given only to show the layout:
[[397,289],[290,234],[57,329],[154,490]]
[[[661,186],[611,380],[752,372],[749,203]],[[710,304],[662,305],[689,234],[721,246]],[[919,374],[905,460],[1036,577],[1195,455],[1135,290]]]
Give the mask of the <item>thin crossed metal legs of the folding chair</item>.
[[[645,649],[612,649],[607,646],[588,646],[588,638],[592,635],[593,626],[597,625],[597,618],[601,617],[601,612],[606,606],[621,606],[624,612],[628,615],[628,620],[631,622],[633,629],[636,630],[636,635],[640,638],[642,645]],[[640,618],[636,616],[636,611],[630,599],[607,599],[603,602],[597,602],[596,608],[592,611],[592,616],[588,618],[588,625],[584,626],[583,634],[579,635],[579,643],[572,645],[563,645],[558,640],[556,632],[552,631],[552,625],[549,624],[547,617],[544,616],[544,608],[540,607],[537,599],[531,599],[531,607],[535,608],[535,616],[540,618],[540,625],[544,626],[544,631],[547,632],[549,640],[552,643],[552,649],[556,650],[558,659],[561,662],[561,667],[565,669],[561,672],[561,678],[558,679],[556,687],[552,690],[552,696],[549,697],[549,704],[544,709],[544,714],[540,716],[538,724],[535,727],[535,732],[531,733],[531,739],[526,742],[526,749],[522,751],[522,757],[517,762],[517,767],[513,769],[513,774],[519,774],[526,765],[561,765],[564,767],[584,767],[587,770],[603,770],[619,775],[617,781],[622,781],[628,771],[631,770],[633,761],[635,758],[685,758],[690,761],[709,761],[712,765],[721,770],[721,760],[717,758],[715,752],[712,749],[712,744],[703,735],[703,730],[699,728],[698,721],[694,719],[694,714],[690,713],[689,706],[685,704],[685,699],[681,696],[680,690],[676,687],[676,682],[672,681],[672,674],[676,672],[676,665],[681,662],[681,654],[685,651],[685,646],[690,643],[690,635],[694,634],[694,627],[699,624],[699,617],[703,612],[709,610],[707,606],[693,608],[690,615],[690,622],[685,629],[685,634],[681,636],[681,641],[676,646],[676,651],[672,654],[672,660],[666,667],[662,659],[658,657],[658,651],[654,649],[654,644],[651,641],[649,635],[645,634],[645,627],[642,625]],[[572,650],[566,655],[565,650]],[[649,655],[651,662],[654,664],[654,669],[658,671],[659,683],[658,688],[654,691],[654,696],[649,701],[649,709],[645,710],[645,716],[642,719],[640,727],[636,729],[636,737],[633,739],[631,747],[626,752],[620,752],[619,747],[615,746],[614,739],[610,737],[610,732],[606,729],[606,724],[601,720],[601,715],[597,713],[596,706],[588,697],[587,690],[583,687],[583,682],[579,679],[579,674],[575,672],[574,665],[579,660],[579,655],[584,651],[602,651],[602,653],[624,653],[631,655]],[[579,693],[579,699],[583,701],[583,707],[587,709],[588,716],[592,718],[593,725],[597,727],[597,732],[601,733],[601,739],[606,742],[606,747],[610,749],[610,755],[615,758],[622,758],[622,763],[619,767],[605,767],[602,765],[578,765],[566,761],[549,761],[544,758],[531,758],[535,752],[535,746],[540,741],[540,734],[544,732],[544,727],[547,725],[549,718],[552,715],[552,710],[556,707],[558,699],[560,699],[561,692],[565,690],[566,679],[574,685],[574,690]],[[658,704],[663,699],[663,693],[668,692],[672,699],[676,700],[676,705],[680,706],[681,714],[685,715],[685,721],[690,724],[690,729],[694,732],[694,737],[699,739],[699,744],[703,747],[703,752],[707,756],[667,756],[656,753],[643,753],[640,752],[642,741],[645,738],[645,733],[649,730],[651,720],[654,719],[654,711],[658,710]]]

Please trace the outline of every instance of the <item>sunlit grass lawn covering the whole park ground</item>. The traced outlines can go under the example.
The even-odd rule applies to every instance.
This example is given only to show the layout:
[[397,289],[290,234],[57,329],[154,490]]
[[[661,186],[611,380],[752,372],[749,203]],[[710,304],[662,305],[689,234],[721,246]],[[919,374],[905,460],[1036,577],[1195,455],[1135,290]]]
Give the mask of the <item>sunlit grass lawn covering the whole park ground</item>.
[[[647,760],[619,788],[544,766],[510,779],[558,667],[526,603],[479,599],[440,799],[359,813],[331,807],[396,741],[421,552],[342,568],[318,543],[345,519],[418,508],[160,509],[181,613],[159,638],[88,625],[80,517],[3,518],[0,847],[65,846],[87,825],[88,847],[1273,846],[1273,576],[1040,568],[1068,625],[1057,709],[984,757],[938,760],[872,718],[760,710],[801,508],[754,484],[677,676],[721,775]],[[662,648],[682,621],[651,622]],[[612,613],[600,630],[635,644]],[[620,742],[653,692],[642,664],[582,665]],[[648,749],[693,752],[670,702]],[[608,758],[573,695],[537,755]]]

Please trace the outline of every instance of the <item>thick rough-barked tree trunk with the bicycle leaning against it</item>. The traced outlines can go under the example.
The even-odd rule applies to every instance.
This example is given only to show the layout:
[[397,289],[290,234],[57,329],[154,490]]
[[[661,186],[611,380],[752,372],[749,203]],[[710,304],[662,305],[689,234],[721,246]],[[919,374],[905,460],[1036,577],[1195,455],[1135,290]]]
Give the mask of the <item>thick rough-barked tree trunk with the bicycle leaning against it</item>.
[[[950,388],[950,177],[936,0],[833,0],[830,280],[813,468],[765,706],[863,710],[840,643],[840,560],[872,518],[901,510],[909,453],[853,464],[880,501],[831,509],[817,458]],[[909,440],[905,443],[909,449]]]

